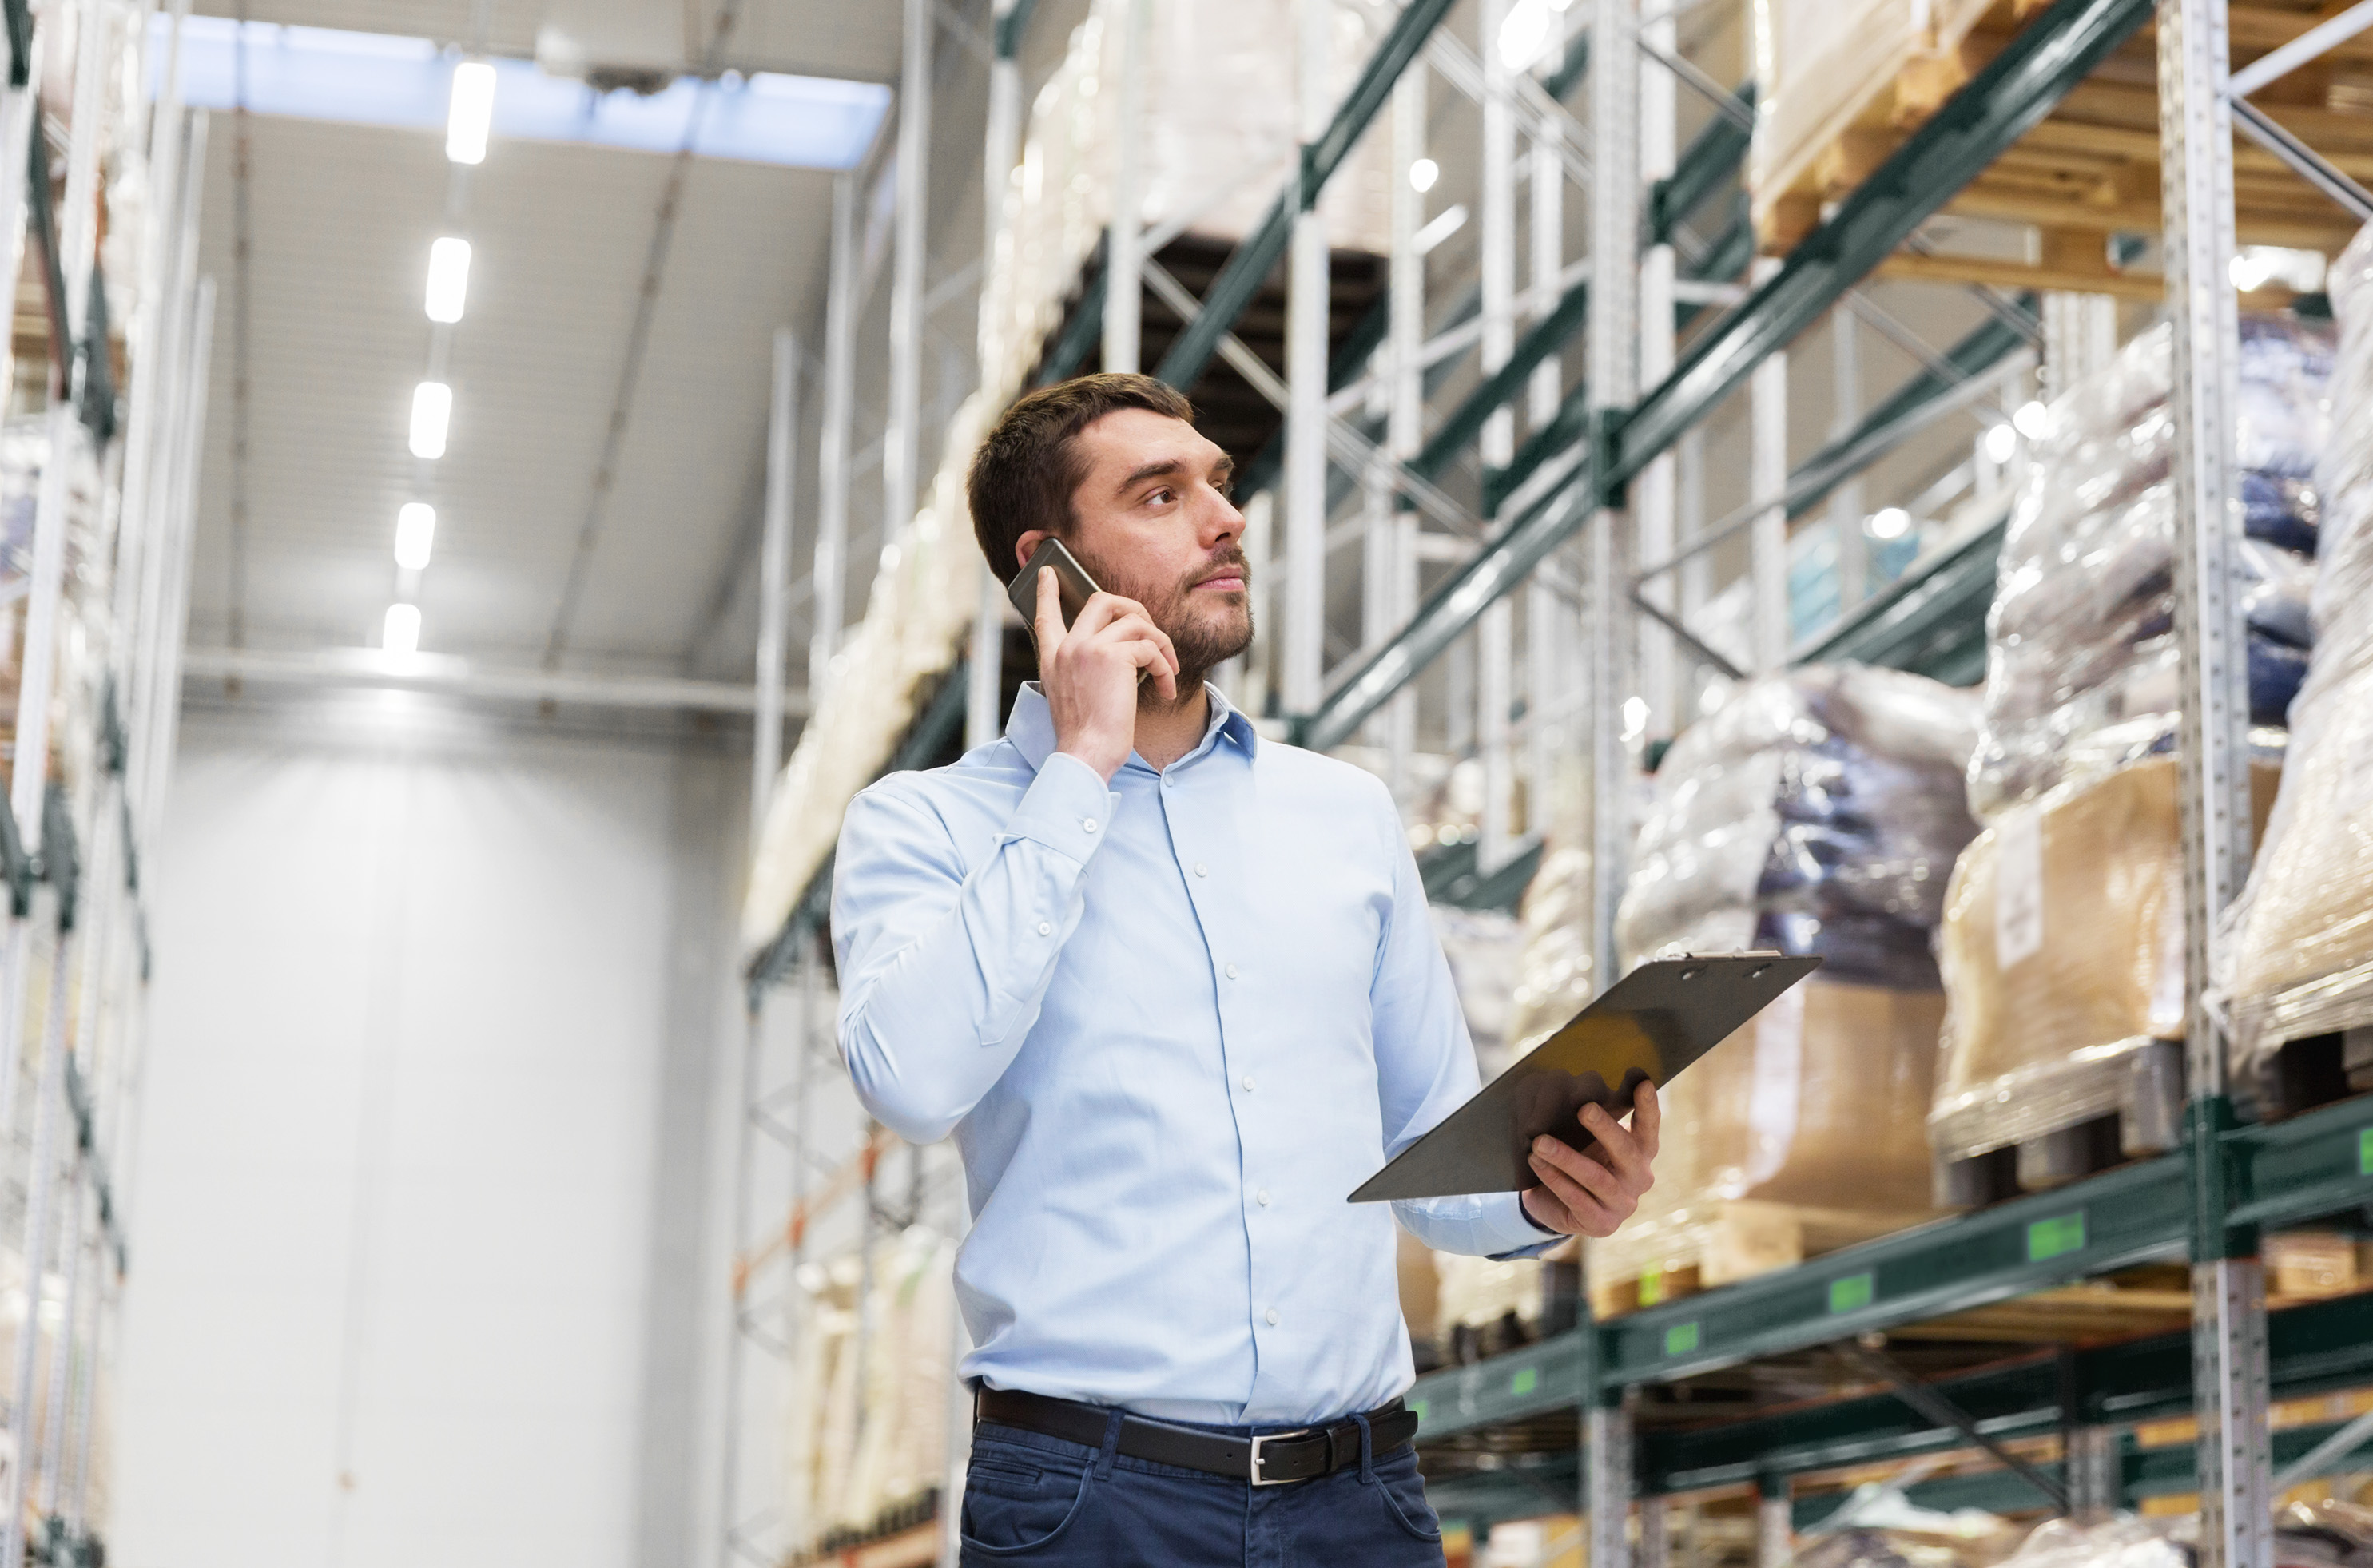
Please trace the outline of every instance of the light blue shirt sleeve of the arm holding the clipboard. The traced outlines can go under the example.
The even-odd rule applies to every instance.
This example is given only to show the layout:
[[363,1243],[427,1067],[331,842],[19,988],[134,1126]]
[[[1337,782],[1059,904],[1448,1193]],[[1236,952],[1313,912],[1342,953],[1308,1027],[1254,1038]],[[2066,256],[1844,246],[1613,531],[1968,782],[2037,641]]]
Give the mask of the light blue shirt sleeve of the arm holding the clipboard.
[[[1476,1072],[1476,1048],[1459,1011],[1457,984],[1450,980],[1450,961],[1433,932],[1417,859],[1388,799],[1386,826],[1388,854],[1395,859],[1393,913],[1376,951],[1369,1003],[1383,1158],[1391,1160],[1471,1101],[1483,1079]],[[1412,1236],[1440,1253],[1535,1257],[1564,1241],[1533,1224],[1516,1193],[1402,1198],[1393,1203],[1393,1215]]]

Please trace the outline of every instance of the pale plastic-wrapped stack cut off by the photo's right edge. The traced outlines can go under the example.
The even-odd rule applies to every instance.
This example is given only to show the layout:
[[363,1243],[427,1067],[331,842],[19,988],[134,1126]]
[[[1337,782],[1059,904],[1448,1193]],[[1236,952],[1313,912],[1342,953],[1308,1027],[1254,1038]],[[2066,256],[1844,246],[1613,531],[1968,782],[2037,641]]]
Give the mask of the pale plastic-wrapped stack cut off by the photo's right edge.
[[[2340,351],[2318,470],[2316,652],[2290,707],[2280,799],[2221,944],[2245,1082],[2283,1041],[2373,1022],[2373,228],[2340,254],[2330,292]],[[2373,1086],[2368,1046],[2347,1037],[2359,1089]]]

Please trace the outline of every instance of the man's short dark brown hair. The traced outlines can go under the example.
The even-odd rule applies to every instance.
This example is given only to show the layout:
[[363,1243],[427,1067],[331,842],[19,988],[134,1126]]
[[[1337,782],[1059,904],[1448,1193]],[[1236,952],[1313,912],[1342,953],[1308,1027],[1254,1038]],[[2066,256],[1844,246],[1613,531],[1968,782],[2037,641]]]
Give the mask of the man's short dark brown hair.
[[973,508],[973,538],[999,581],[1020,572],[1013,541],[1023,534],[1070,531],[1070,498],[1087,479],[1073,441],[1120,408],[1146,408],[1194,425],[1194,406],[1151,375],[1075,375],[1016,399],[973,453],[963,498]]

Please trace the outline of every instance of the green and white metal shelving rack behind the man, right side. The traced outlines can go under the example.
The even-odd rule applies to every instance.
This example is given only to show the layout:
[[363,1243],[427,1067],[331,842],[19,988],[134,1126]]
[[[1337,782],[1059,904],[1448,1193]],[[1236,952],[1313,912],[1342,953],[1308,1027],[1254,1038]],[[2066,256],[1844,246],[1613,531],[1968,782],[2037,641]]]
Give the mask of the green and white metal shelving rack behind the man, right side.
[[[1315,19],[1327,0],[1293,5],[1312,21],[1303,38],[1315,40],[1322,33]],[[2003,531],[1998,522],[1955,538],[1882,593],[1849,598],[1834,626],[1794,650],[1784,636],[1784,524],[1820,505],[1837,486],[1851,484],[1929,420],[1967,408],[1984,394],[1989,375],[2041,346],[2041,318],[2048,311],[2038,311],[2034,299],[1977,289],[1989,318],[1951,349],[1929,349],[1927,368],[1877,406],[1849,410],[1851,420],[1841,420],[1827,446],[1794,472],[1787,472],[1784,455],[1775,455],[1770,436],[1758,436],[1754,501],[1687,541],[1675,538],[1675,463],[1687,472],[1697,432],[1749,384],[1758,429],[1777,425],[1784,434],[1784,389],[1773,387],[1775,380],[1784,387],[1784,377],[1770,372],[1792,342],[1839,306],[1860,308],[1853,292],[1882,261],[2155,19],[2167,287],[2183,344],[2174,413],[2178,448],[2188,453],[2178,474],[2186,520],[2178,553],[2178,631],[2186,645],[2186,928],[2190,973],[2205,975],[2214,916],[2247,863],[2247,818],[2240,811],[2242,633],[2238,610],[2224,591],[2224,560],[2235,538],[2221,522],[2224,496],[2233,489],[2235,342],[2233,292],[2224,273],[2224,259],[2233,251],[2226,0],[2055,0],[1789,256],[1754,268],[1744,202],[1716,213],[1725,221],[1713,240],[1697,240],[1687,230],[1687,221],[1704,216],[1725,190],[1747,147],[1742,121],[1751,93],[1725,95],[1678,57],[1671,31],[1678,7],[1578,0],[1571,9],[1585,14],[1588,26],[1576,28],[1554,69],[1538,76],[1490,59],[1495,24],[1507,17],[1502,0],[1478,5],[1483,62],[1440,33],[1452,0],[1407,0],[1381,26],[1364,69],[1338,104],[1319,104],[1308,85],[1315,71],[1305,74],[1305,145],[1293,178],[1203,299],[1170,301],[1184,325],[1156,375],[1191,387],[1213,356],[1241,363],[1241,344],[1232,337],[1236,318],[1281,263],[1291,278],[1289,344],[1296,346],[1289,351],[1286,377],[1270,377],[1265,387],[1286,415],[1281,460],[1274,467],[1253,465],[1274,477],[1281,503],[1284,546],[1274,560],[1281,562],[1284,579],[1286,652],[1279,690],[1286,731],[1300,745],[1319,750],[1362,735],[1381,738],[1395,752],[1398,769],[1410,747],[1405,709],[1414,681],[1445,650],[1474,636],[1483,667],[1476,683],[1478,752],[1495,771],[1497,792],[1507,783],[1516,745],[1504,702],[1509,598],[1526,591],[1528,619],[1554,612],[1559,598],[1578,600],[1588,622],[1580,669],[1557,664],[1571,655],[1554,648],[1547,664],[1538,648],[1528,657],[1535,676],[1547,671],[1569,688],[1580,686],[1590,700],[1588,740],[1580,750],[1592,759],[1597,783],[1592,863],[1599,965],[1607,973],[1614,963],[1611,911],[1630,840],[1621,785],[1635,776],[1630,738],[1618,728],[1623,700],[1644,695],[1661,712],[1659,721],[1671,721],[1678,657],[1730,667],[1690,629],[1687,593],[1675,600],[1661,581],[1668,572],[1692,553],[1744,534],[1754,560],[1749,579],[1758,667],[1780,667],[1789,657],[1856,657],[1967,678],[1981,659],[1979,626],[1993,586]],[[997,5],[997,57],[1006,69],[1028,12],[1028,0]],[[2318,28],[2318,36],[2328,31]],[[2285,50],[2290,64],[2311,55],[2311,47]],[[1436,325],[1438,337],[1426,344],[1421,289],[1395,282],[1379,306],[1379,320],[1353,334],[1367,356],[1381,361],[1372,370],[1381,387],[1369,410],[1374,415],[1381,403],[1383,418],[1362,429],[1341,415],[1360,365],[1327,363],[1327,334],[1298,332],[1296,323],[1308,327],[1329,311],[1319,192],[1353,145],[1376,128],[1386,104],[1393,107],[1391,176],[1405,183],[1412,161],[1424,154],[1426,88],[1417,81],[1419,71],[1433,71],[1476,97],[1488,142],[1531,140],[1535,178],[1542,166],[1552,171],[1547,185],[1535,185],[1535,199],[1559,199],[1559,164],[1588,166],[1592,259],[1557,270],[1559,259],[1550,256],[1557,285],[1547,287],[1535,256],[1531,301],[1512,301],[1514,159],[1488,149],[1478,197],[1483,278],[1476,301],[1450,311],[1450,325]],[[1576,123],[1564,102],[1583,78],[1588,128]],[[1718,102],[1709,128],[1687,147],[1673,147],[1668,130],[1675,85]],[[985,159],[992,192],[1013,161],[1013,90],[1011,76],[999,90],[992,66],[992,135]],[[2311,152],[2292,147],[2280,157],[2326,192],[2356,199],[2347,178],[2321,166]],[[1113,206],[1130,209],[1127,202]],[[2373,204],[2361,216],[2373,216]],[[1395,278],[1421,275],[1414,221],[1395,216],[1393,228]],[[1115,266],[1125,266],[1137,251],[1134,235],[1118,235],[1108,247]],[[1749,278],[1747,287],[1737,282],[1742,275]],[[1122,363],[1134,361],[1127,325],[1101,320],[1099,301],[1101,294],[1092,287],[1049,363],[1077,365],[1099,332],[1108,358],[1118,353]],[[1706,311],[1720,313],[1701,325]],[[1469,315],[1481,320],[1462,325]],[[1516,315],[1528,318],[1523,330]],[[1675,346],[1675,327],[1685,325],[1697,332],[1685,346]],[[1118,349],[1115,332],[1122,339]],[[1459,332],[1471,332],[1474,342],[1450,344]],[[1554,365],[1576,334],[1588,334],[1588,375],[1561,389]],[[1445,356],[1467,351],[1478,351],[1481,380],[1440,413],[1429,434],[1419,415],[1431,382],[1440,363],[1448,363]],[[1433,358],[1419,370],[1424,353]],[[1533,432],[1523,444],[1512,439],[1509,415],[1519,401],[1528,406]],[[1436,486],[1469,453],[1481,460],[1478,515],[1469,515]],[[1407,555],[1398,567],[1369,576],[1369,591],[1398,576],[1400,588],[1391,593],[1405,598],[1381,624],[1372,617],[1367,645],[1331,676],[1317,671],[1315,657],[1322,650],[1327,603],[1329,460],[1355,470],[1367,486],[1372,501],[1364,529],[1381,557],[1412,548],[1412,531],[1393,522],[1410,508],[1433,529],[1457,536],[1459,546],[1445,553],[1457,560],[1455,569],[1421,600],[1410,586],[1414,569]],[[982,610],[973,643],[978,678],[952,678],[918,728],[933,721],[954,726],[959,688],[968,686],[963,716],[971,740],[994,735],[994,681],[987,671],[994,595],[982,600]],[[1533,690],[1545,690],[1538,678]],[[1535,745],[1542,745],[1540,733],[1542,726],[1535,724]],[[1485,809],[1478,863],[1462,875],[1488,880],[1519,863],[1528,849],[1512,840],[1504,807],[1497,823]],[[800,901],[783,939],[759,961],[759,984],[788,973],[788,961],[802,951],[807,932],[821,918],[826,885],[828,871]],[[2178,1153],[1623,1319],[1585,1321],[1478,1366],[1421,1378],[1412,1395],[1424,1414],[1421,1440],[1569,1416],[1583,1433],[1578,1457],[1512,1461],[1495,1473],[1450,1480],[1438,1490],[1438,1504],[1448,1516],[1504,1518],[1540,1513],[1545,1499],[1552,1499],[1561,1504],[1559,1511],[1590,1516],[1595,1568],[1626,1568],[1635,1551],[1642,1568],[1661,1568],[1661,1511],[1642,1513],[1637,1540],[1628,1528],[1630,1506],[1640,1497],[1756,1483],[1766,1497],[1766,1547],[1784,1547],[1794,1518],[1787,1485],[1796,1473],[2060,1430],[2067,1435],[2069,1461],[2043,1466],[2038,1478],[2069,1494],[2076,1506],[2197,1490],[2207,1513],[2207,1568],[2269,1568],[2271,1464],[2297,1461],[2309,1447],[2333,1447],[2321,1442],[2333,1433],[2285,1433],[2269,1440],[2266,1400],[2373,1383],[2373,1309],[2364,1298],[2342,1298],[2269,1317],[2257,1238],[2271,1226],[2373,1203],[2373,1098],[2345,1101],[2280,1124],[2242,1124],[2226,1091],[2214,1018],[2200,1006],[2193,1008],[2188,1058],[2193,1103]],[[1856,1336],[2169,1260],[2190,1264],[2188,1338],[2029,1359],[1962,1373],[1934,1388],[1898,1388],[1891,1395],[1692,1433],[1640,1435],[1630,1426],[1626,1392],[1647,1383],[1815,1345],[1851,1345]],[[2200,1416],[2202,1440],[2190,1454],[2136,1449],[2112,1438],[2119,1426],[2176,1411]],[[2337,1461],[2361,1447],[2359,1438],[2364,1433],[2321,1459]],[[2036,1478],[2022,1478],[2012,1468],[2003,1475],[1929,1480],[1913,1497],[1939,1504],[1986,1502],[2034,1485]]]

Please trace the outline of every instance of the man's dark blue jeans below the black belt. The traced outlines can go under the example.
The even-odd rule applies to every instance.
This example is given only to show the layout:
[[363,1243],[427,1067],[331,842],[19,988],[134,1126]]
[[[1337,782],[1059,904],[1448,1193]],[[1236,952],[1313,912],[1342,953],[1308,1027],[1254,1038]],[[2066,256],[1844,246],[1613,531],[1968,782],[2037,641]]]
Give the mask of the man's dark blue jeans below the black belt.
[[[1229,1430],[1229,1428],[1220,1428]],[[1232,1428],[1248,1430],[1248,1428]],[[1260,1433],[1289,1428],[1251,1428]],[[1051,1568],[1440,1568],[1417,1449],[1281,1487],[1182,1471],[1009,1426],[973,1428],[963,1563]],[[1364,1447],[1364,1442],[1362,1442]]]

